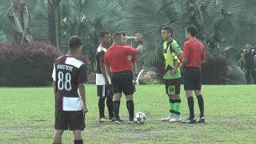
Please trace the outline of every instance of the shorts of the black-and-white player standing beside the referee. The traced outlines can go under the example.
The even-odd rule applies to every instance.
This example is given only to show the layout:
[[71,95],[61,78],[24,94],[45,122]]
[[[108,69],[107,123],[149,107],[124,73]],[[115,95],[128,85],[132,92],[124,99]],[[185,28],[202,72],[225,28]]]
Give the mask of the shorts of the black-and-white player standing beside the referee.
[[97,95],[100,98],[112,98],[113,97],[113,90],[112,86],[105,86],[105,85],[98,85],[97,86]]

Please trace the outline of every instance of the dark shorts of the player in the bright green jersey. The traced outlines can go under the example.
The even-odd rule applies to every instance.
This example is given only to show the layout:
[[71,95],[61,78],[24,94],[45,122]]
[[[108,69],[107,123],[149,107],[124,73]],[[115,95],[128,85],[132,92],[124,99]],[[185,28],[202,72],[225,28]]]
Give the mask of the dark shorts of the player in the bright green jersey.
[[180,94],[181,91],[181,78],[166,79],[166,94]]

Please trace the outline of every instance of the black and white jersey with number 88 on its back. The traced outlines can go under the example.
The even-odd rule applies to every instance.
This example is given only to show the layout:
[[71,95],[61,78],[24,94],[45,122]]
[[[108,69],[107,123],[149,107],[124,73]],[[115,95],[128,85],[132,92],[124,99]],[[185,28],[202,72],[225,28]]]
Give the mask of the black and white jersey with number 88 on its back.
[[57,83],[58,109],[82,110],[78,84],[87,80],[85,64],[77,58],[59,57],[54,62],[52,78]]

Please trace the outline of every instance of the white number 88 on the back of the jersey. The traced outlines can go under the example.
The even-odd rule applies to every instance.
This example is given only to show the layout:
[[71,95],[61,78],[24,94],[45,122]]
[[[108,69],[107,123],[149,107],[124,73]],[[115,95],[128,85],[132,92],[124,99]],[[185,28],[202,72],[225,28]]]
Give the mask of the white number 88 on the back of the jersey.
[[71,74],[66,73],[64,79],[64,74],[62,73],[62,71],[58,72],[58,90],[65,89],[70,91],[71,88]]

